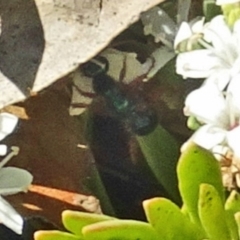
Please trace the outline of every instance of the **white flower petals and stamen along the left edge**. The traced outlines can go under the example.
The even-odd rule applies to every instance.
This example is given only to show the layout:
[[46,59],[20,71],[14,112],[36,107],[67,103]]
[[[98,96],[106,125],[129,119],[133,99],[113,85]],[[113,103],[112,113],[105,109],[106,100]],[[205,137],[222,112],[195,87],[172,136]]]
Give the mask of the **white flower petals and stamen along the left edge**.
[[[0,141],[13,132],[18,118],[10,113],[0,113]],[[11,152],[0,161],[0,223],[12,229],[17,234],[22,233],[23,218],[1,196],[26,192],[32,183],[33,176],[25,169],[4,167],[6,163],[19,152],[18,147],[12,147]],[[0,144],[0,156],[7,154],[8,148]]]

